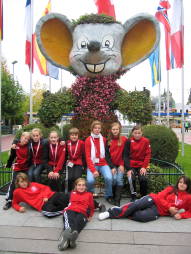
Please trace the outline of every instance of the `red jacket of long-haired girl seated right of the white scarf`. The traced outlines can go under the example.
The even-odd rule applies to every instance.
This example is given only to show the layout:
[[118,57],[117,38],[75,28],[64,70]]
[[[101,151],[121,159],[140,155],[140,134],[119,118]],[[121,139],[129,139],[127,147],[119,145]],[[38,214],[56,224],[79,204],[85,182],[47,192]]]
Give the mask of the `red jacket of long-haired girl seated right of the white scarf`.
[[116,166],[124,166],[123,150],[127,138],[121,136],[121,145],[118,145],[118,141],[118,138],[114,138],[111,140],[110,145],[106,146],[106,160],[111,169]]

